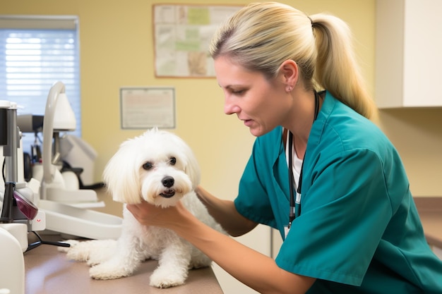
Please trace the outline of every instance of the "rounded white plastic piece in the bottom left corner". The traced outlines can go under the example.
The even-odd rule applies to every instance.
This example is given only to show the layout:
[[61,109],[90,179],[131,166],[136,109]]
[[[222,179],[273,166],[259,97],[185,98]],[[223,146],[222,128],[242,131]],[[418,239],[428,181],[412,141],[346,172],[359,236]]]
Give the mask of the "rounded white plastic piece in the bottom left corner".
[[[25,231],[26,231],[26,225]],[[25,260],[16,237],[0,227],[0,290],[2,293],[25,293]]]

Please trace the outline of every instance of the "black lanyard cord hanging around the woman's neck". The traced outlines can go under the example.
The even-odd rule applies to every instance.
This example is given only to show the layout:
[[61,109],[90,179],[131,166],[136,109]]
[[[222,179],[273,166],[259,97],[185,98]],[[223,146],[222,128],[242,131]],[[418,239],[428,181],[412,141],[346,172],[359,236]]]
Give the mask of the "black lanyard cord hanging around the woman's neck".
[[[313,116],[313,122],[316,121],[316,118],[318,118],[318,112],[319,112],[319,94],[316,92],[316,90],[313,90],[315,92],[315,113]],[[289,153],[289,187],[290,187],[290,212],[289,212],[289,226],[292,226],[292,221],[296,218],[296,201],[294,199],[294,176],[293,176],[293,155],[292,155],[292,148],[293,148],[293,133],[289,131],[289,148],[287,148]],[[305,158],[306,152],[304,152],[304,158]],[[302,185],[302,171],[304,170],[304,159],[302,159],[301,164],[301,171],[299,172],[299,183],[297,187],[297,193],[301,195],[301,185]],[[301,203],[299,203],[298,206],[298,215],[301,214]]]

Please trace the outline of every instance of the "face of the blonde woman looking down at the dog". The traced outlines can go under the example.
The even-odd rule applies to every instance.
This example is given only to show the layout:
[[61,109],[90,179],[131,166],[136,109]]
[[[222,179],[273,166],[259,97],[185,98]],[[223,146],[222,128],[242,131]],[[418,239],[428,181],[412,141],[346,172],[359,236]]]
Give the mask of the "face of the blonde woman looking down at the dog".
[[215,59],[215,73],[225,94],[225,114],[237,114],[252,135],[264,135],[287,118],[292,97],[283,82],[268,80],[225,56]]

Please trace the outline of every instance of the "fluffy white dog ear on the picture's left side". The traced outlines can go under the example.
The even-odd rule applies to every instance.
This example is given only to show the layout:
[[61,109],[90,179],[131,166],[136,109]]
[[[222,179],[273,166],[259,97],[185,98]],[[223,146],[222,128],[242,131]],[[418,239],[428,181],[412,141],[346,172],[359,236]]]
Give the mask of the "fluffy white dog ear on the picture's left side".
[[127,204],[141,202],[140,169],[134,156],[136,151],[131,148],[133,144],[133,140],[121,144],[117,153],[107,163],[103,173],[104,183],[114,201]]

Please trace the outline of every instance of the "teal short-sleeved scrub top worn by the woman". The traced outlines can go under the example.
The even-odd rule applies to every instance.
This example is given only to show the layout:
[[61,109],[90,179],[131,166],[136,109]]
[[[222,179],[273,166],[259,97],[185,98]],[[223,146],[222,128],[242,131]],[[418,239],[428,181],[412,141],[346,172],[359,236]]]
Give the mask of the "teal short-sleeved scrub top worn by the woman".
[[301,214],[289,222],[282,128],[256,138],[234,200],[277,228],[278,267],[317,278],[308,293],[442,293],[442,262],[426,243],[398,152],[329,92],[304,157]]

